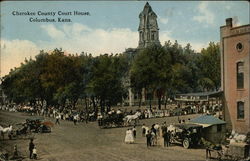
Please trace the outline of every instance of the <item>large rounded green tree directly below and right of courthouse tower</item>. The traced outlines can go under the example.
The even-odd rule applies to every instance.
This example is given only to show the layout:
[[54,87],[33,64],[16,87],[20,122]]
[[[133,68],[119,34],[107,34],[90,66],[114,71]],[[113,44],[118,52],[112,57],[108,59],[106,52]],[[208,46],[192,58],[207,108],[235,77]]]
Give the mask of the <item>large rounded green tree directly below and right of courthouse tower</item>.
[[165,94],[167,82],[170,80],[171,57],[163,47],[153,45],[141,50],[135,57],[130,71],[131,87],[141,92],[142,88],[150,94],[151,100],[156,92],[158,107]]

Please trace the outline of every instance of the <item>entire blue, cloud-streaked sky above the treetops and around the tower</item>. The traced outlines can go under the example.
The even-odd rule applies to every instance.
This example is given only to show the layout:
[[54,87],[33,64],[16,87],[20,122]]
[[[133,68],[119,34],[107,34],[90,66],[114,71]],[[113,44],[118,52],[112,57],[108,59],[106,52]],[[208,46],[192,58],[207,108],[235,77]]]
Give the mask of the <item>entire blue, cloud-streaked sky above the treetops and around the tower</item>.
[[[138,46],[139,14],[146,1],[4,1],[1,2],[1,76],[34,58],[40,50],[62,48],[67,53],[94,56],[122,53]],[[249,24],[247,1],[149,1],[157,14],[160,42],[190,43],[200,52],[220,41],[226,18],[233,25]],[[73,15],[73,12],[89,13]],[[34,13],[27,15],[27,12]],[[38,13],[53,15],[38,15]],[[59,15],[60,13],[71,15]],[[22,13],[26,15],[17,15]],[[30,22],[55,19],[57,22]],[[70,22],[58,22],[58,18]]]

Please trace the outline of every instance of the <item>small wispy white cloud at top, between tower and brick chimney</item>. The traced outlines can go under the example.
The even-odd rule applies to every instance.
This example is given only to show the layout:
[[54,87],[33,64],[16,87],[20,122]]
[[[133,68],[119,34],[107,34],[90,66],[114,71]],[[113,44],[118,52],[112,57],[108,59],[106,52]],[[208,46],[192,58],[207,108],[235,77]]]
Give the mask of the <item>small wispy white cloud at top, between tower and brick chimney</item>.
[[212,25],[214,23],[214,13],[209,10],[208,8],[208,2],[200,2],[197,8],[199,15],[193,16],[193,20],[197,21],[199,23],[205,23]]

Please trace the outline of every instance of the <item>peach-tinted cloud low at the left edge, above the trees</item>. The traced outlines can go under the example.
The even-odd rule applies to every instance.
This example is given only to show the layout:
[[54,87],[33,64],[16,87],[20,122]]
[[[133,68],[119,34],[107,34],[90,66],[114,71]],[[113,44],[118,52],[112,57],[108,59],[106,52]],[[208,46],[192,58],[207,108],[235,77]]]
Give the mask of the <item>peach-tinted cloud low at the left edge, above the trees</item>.
[[39,49],[28,40],[1,40],[1,76],[9,73],[11,68],[20,66],[25,58],[38,54]]

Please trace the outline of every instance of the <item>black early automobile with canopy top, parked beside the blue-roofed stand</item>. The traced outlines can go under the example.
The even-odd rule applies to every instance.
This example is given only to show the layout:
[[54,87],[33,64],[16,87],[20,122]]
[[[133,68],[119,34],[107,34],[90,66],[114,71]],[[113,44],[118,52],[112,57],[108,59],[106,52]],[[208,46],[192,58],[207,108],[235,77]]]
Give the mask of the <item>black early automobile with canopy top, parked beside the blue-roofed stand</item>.
[[168,127],[170,143],[182,144],[188,149],[200,142],[202,126],[196,124],[175,124]]

